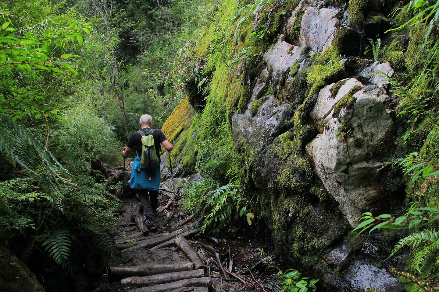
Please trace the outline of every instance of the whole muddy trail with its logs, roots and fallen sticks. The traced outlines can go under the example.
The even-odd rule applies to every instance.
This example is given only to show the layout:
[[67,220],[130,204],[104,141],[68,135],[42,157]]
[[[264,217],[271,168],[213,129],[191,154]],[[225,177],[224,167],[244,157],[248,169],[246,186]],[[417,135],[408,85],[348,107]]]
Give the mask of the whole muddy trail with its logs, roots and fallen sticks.
[[95,291],[281,291],[274,256],[261,252],[257,236],[199,236],[197,218],[178,211],[181,195],[172,197],[159,191],[157,231],[148,234],[135,222],[140,201],[123,200],[118,257]]

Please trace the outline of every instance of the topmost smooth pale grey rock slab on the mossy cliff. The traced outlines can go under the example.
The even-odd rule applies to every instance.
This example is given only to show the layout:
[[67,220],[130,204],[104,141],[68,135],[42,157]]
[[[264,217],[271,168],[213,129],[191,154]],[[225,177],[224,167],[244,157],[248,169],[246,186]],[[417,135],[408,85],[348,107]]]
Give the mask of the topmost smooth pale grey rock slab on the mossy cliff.
[[302,46],[321,52],[331,45],[342,14],[336,9],[308,7],[302,17],[300,36]]

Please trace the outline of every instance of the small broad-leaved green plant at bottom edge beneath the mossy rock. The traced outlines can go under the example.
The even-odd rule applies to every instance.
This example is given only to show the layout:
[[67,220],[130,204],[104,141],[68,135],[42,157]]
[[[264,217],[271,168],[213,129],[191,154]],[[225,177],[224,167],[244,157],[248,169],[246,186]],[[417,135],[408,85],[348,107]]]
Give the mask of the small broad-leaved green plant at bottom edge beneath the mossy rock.
[[282,287],[281,291],[286,292],[307,292],[316,291],[318,279],[308,280],[309,277],[302,277],[299,271],[288,269],[285,272],[277,272],[277,283]]

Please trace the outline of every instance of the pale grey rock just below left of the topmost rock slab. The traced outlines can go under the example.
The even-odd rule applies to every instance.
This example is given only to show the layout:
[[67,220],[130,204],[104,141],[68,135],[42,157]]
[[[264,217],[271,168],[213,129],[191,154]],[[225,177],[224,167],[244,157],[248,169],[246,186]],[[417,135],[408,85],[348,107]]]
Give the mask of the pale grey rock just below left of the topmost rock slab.
[[284,39],[285,36],[281,35],[263,56],[263,60],[273,69],[271,79],[274,83],[279,83],[283,79],[295,60],[299,60],[303,49],[300,46],[293,46],[285,42]]

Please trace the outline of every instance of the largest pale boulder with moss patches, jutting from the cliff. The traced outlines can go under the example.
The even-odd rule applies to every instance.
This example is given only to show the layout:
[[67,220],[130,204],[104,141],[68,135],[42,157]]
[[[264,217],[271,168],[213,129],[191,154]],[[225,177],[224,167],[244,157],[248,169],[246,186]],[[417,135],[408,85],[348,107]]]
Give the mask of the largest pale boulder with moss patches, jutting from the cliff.
[[372,159],[372,152],[393,129],[384,104],[363,87],[356,88],[337,102],[338,111],[331,110],[323,134],[306,146],[317,175],[352,226],[382,201],[378,169],[383,163]]

